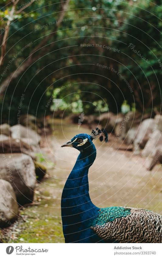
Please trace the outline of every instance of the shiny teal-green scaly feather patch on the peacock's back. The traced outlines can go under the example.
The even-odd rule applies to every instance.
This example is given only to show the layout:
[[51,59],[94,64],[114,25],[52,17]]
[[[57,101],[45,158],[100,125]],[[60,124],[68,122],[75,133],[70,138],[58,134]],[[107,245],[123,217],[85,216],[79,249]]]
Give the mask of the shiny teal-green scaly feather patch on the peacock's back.
[[95,218],[92,222],[92,226],[94,225],[103,225],[109,221],[113,221],[115,218],[122,218],[126,217],[130,214],[130,209],[123,208],[123,207],[108,207],[108,208],[101,208],[98,211],[98,217]]

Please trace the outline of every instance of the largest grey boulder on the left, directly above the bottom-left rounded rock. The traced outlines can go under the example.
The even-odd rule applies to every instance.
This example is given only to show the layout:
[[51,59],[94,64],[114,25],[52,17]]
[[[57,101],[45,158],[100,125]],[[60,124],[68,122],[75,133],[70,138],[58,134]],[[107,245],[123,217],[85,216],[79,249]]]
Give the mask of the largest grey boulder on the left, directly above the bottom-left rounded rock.
[[0,154],[0,176],[12,185],[19,205],[33,201],[36,173],[30,156],[22,153]]

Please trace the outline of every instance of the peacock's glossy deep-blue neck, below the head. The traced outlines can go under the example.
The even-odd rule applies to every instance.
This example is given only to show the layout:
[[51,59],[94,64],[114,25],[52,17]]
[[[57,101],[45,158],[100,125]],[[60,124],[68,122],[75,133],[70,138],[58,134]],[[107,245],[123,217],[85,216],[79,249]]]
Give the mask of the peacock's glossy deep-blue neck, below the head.
[[95,158],[96,148],[92,143],[79,154],[73,170],[66,181],[61,198],[64,235],[73,233],[76,228],[77,230],[87,228],[89,220],[93,219],[99,210],[91,202],[88,185],[88,170]]

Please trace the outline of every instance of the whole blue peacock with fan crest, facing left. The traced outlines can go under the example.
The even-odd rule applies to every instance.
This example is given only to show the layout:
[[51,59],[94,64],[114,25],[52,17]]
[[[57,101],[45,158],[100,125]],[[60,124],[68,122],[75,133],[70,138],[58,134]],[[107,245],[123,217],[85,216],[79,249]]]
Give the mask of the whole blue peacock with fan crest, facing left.
[[92,142],[108,142],[105,129],[81,133],[61,147],[80,151],[65,183],[61,216],[65,243],[162,243],[162,216],[130,207],[96,207],[89,196],[88,170],[96,158]]

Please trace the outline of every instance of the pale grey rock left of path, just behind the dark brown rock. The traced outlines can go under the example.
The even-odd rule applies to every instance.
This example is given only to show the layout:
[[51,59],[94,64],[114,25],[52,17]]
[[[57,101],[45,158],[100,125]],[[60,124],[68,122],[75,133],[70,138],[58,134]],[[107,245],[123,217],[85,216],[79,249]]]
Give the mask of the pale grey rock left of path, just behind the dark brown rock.
[[26,128],[22,125],[15,125],[10,127],[11,136],[13,139],[19,139],[23,142],[32,145],[38,146],[41,138],[34,130]]

